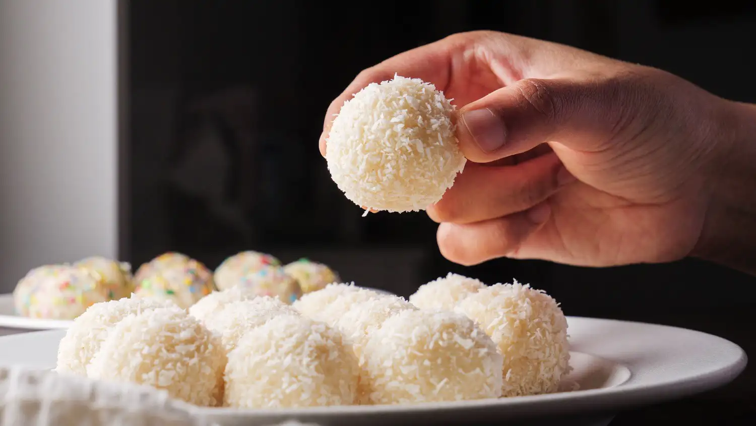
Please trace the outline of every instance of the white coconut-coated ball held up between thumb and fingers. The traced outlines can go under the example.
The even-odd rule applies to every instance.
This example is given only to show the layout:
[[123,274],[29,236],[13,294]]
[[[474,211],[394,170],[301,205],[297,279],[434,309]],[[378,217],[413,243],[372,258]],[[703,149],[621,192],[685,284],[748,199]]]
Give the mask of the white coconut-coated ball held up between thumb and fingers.
[[453,112],[444,94],[420,79],[371,83],[333,120],[326,149],[333,181],[368,209],[425,210],[465,165]]

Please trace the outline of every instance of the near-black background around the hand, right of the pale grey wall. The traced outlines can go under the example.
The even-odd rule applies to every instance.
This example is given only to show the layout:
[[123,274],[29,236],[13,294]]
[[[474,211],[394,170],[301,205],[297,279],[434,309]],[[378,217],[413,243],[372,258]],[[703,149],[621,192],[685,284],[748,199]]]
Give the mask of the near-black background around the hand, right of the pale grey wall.
[[[449,271],[543,288],[572,316],[694,328],[756,353],[754,278],[697,260],[585,269],[463,268],[424,213],[361,217],[318,152],[330,101],[363,68],[466,30],[562,42],[756,101],[754,2],[200,2],[132,0],[125,26],[121,257],[179,250],[214,268],[240,250],[308,256],[408,296]],[[756,421],[754,367],[733,384],[613,424]]]

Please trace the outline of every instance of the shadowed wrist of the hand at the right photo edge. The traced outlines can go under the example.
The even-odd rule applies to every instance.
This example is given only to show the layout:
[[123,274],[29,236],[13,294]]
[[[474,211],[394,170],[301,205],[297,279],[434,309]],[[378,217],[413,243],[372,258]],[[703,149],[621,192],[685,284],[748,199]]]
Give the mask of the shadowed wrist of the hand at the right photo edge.
[[724,101],[717,115],[707,210],[692,255],[756,275],[756,105]]

